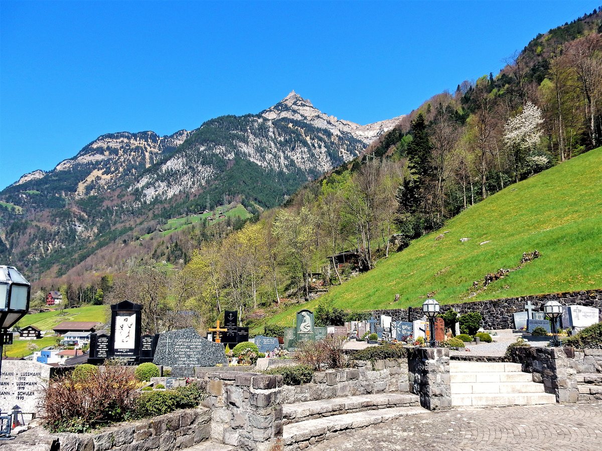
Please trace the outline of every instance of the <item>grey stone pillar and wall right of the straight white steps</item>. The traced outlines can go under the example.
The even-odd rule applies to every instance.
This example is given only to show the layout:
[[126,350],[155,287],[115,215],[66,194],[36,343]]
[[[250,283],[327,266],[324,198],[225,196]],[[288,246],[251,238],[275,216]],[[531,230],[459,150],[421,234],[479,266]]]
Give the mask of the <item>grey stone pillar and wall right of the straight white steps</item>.
[[577,402],[577,369],[574,348],[512,348],[511,357],[533,373],[533,382],[543,382],[545,393],[556,395],[556,402]]

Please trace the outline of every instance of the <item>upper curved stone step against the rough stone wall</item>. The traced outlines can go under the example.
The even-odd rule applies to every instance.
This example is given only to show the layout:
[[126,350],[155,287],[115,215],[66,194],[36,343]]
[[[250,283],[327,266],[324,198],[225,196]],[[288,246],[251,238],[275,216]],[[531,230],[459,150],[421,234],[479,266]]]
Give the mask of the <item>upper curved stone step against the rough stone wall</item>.
[[420,397],[410,393],[379,393],[285,404],[283,424],[303,422],[341,414],[392,407],[420,406]]

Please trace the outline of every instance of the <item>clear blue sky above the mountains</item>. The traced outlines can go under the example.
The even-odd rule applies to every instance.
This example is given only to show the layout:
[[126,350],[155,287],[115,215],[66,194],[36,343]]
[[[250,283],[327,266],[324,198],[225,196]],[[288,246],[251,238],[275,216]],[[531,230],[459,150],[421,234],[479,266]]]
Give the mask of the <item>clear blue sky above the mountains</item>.
[[194,129],[293,89],[338,118],[391,118],[598,5],[2,0],[0,189],[103,133]]

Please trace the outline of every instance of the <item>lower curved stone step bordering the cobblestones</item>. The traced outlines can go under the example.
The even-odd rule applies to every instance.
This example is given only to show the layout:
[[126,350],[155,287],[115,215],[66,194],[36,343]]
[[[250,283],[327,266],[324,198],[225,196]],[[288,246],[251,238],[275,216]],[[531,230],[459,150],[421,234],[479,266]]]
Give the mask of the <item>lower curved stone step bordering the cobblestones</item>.
[[285,451],[305,449],[309,445],[336,437],[349,429],[366,428],[399,417],[418,414],[432,414],[421,407],[391,407],[368,410],[327,418],[306,420],[284,426],[282,440]]

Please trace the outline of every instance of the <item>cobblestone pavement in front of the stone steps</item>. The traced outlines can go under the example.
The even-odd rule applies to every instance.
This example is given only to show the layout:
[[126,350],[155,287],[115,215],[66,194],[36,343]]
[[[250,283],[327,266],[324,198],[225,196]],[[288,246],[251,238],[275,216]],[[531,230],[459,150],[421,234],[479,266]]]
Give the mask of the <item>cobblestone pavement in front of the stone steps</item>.
[[345,432],[311,451],[602,450],[602,402],[454,409]]

